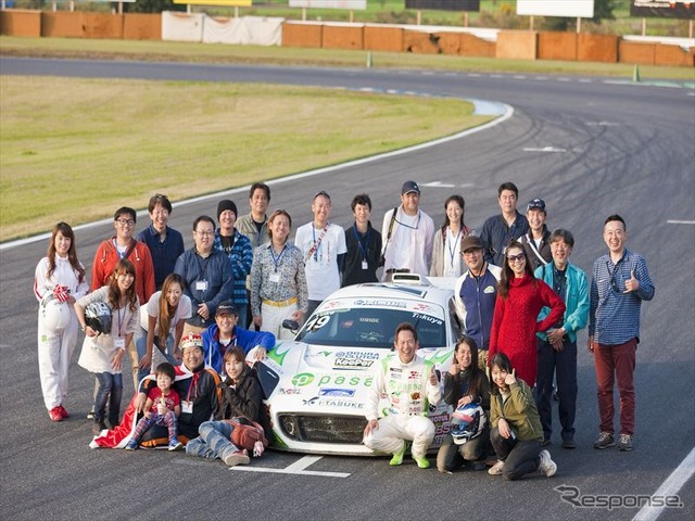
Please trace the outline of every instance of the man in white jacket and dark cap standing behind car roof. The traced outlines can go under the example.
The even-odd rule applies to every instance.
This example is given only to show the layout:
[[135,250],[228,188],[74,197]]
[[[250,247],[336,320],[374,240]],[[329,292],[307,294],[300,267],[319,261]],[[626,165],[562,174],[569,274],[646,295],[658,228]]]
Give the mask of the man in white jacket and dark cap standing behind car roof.
[[415,181],[405,181],[401,188],[401,205],[383,216],[384,280],[394,272],[430,272],[434,221],[419,208],[420,187]]

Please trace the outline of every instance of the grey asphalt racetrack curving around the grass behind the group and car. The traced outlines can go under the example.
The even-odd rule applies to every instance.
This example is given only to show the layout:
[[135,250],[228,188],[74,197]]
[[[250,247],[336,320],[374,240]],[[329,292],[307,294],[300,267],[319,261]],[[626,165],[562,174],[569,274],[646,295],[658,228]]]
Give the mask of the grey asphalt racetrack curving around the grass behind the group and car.
[[[497,186],[511,180],[520,189],[520,206],[543,198],[548,227],[573,232],[572,262],[590,274],[593,260],[606,250],[604,219],[622,215],[628,223],[627,245],[645,256],[656,285],[654,301],[642,312],[635,370],[637,428],[631,453],[592,448],[598,415],[584,331],[578,341],[579,446],[563,449],[554,440],[551,453],[558,472],[553,479],[539,474],[509,483],[486,472],[445,475],[433,467],[419,470],[410,459],[390,468],[384,458],[307,458],[277,452],[248,468],[228,470],[220,461],[193,460],[181,453],[89,449],[91,430],[85,415],[93,378],[77,366],[77,355],[66,404],[73,417],[61,423],[49,421],[39,390],[37,302],[31,292],[34,269],[47,241],[4,244],[0,247],[0,518],[628,520],[640,512],[640,519],[695,519],[692,89],[592,77],[378,69],[18,59],[1,59],[0,66],[5,75],[267,81],[506,103],[514,109],[511,117],[483,131],[406,154],[274,181],[270,208],[288,209],[296,229],[311,219],[313,194],[326,190],[332,198],[331,220],[350,225],[350,201],[366,191],[375,206],[372,223],[380,227],[384,212],[399,203],[403,181],[415,179],[422,187],[422,208],[438,224],[445,198],[462,193],[466,223],[479,228],[498,212]],[[340,114],[334,117],[339,124]],[[62,185],[68,181],[66,173]],[[166,187],[156,191],[166,193]],[[242,188],[225,196],[245,213],[247,193]],[[185,233],[187,246],[192,220],[214,215],[219,199],[223,195],[216,194],[175,207],[170,225]],[[138,219],[138,230],[147,220]],[[77,232],[79,257],[88,268],[99,241],[112,231],[109,221]],[[81,339],[76,351],[80,347]],[[125,404],[132,389],[129,378],[124,382]],[[555,490],[560,486],[561,491]],[[669,495],[678,495],[675,503],[681,506],[635,508],[645,497],[658,506]],[[601,501],[603,507],[597,506]]]

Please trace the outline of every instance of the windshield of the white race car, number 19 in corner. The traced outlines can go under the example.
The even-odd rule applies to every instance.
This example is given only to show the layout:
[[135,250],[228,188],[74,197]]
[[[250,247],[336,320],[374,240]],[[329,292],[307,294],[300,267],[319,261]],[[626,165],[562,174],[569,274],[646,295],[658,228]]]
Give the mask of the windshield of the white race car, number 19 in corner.
[[409,310],[355,307],[320,312],[312,316],[296,341],[341,347],[393,347],[393,333],[401,322],[417,329],[420,347],[446,345],[446,325],[437,316]]

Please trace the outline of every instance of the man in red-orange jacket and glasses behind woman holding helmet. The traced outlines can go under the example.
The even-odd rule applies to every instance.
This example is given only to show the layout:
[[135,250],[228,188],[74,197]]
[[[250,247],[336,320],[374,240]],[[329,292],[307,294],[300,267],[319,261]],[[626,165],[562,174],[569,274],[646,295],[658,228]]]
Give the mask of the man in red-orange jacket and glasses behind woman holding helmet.
[[[132,238],[135,224],[135,209],[123,206],[116,211],[113,216],[113,227],[116,229],[116,234],[102,241],[97,247],[94,262],[91,266],[90,290],[94,291],[106,285],[118,260],[127,258],[135,266],[135,289],[140,305],[144,306],[154,293],[154,265],[147,244]],[[132,360],[132,383],[135,389],[138,389],[139,361],[135,342],[130,342],[128,345],[128,353]]]

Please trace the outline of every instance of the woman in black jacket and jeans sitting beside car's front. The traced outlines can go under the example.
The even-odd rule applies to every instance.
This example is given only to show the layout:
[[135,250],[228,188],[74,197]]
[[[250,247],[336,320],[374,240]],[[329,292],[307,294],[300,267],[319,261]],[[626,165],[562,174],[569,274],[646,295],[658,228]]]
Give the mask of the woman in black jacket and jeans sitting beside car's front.
[[225,465],[248,463],[248,454],[231,443],[233,425],[224,420],[244,416],[258,422],[270,436],[270,421],[263,406],[261,384],[247,365],[245,355],[238,345],[227,348],[224,356],[227,377],[222,382],[223,399],[215,418],[222,421],[205,421],[199,428],[200,436],[186,445],[186,454],[206,459],[222,459]]

